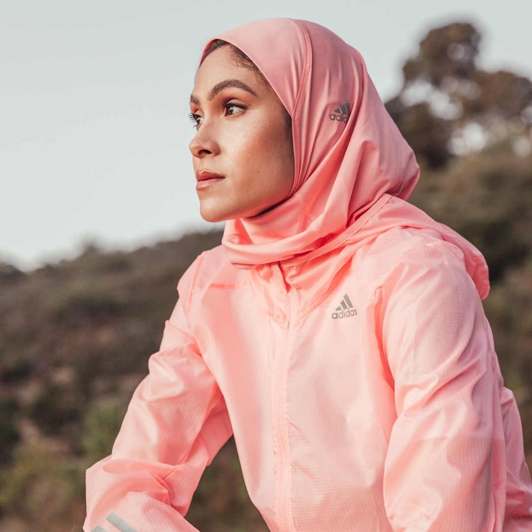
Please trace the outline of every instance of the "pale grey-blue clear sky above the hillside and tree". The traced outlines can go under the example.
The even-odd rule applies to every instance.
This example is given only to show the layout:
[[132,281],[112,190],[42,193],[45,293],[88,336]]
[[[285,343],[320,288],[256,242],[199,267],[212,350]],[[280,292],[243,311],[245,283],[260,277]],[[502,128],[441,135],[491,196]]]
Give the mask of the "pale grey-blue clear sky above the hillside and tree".
[[202,45],[269,16],[318,22],[364,56],[381,98],[429,29],[475,25],[479,65],[532,78],[530,0],[0,0],[0,261],[132,249],[198,213],[188,101]]

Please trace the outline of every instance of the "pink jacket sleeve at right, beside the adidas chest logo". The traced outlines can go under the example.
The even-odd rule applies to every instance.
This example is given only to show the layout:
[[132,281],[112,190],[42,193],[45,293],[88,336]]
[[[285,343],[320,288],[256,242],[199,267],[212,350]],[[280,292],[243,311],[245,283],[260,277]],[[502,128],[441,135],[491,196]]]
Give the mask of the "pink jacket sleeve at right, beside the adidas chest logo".
[[378,298],[397,412],[384,471],[394,532],[501,530],[502,381],[461,251],[411,250]]

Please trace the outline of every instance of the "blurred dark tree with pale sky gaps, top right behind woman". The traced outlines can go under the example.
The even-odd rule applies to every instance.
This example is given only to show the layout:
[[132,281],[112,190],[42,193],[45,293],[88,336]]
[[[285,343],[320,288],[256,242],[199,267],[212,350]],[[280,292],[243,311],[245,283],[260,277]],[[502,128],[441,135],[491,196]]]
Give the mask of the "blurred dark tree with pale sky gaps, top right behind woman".
[[477,67],[480,34],[467,22],[430,30],[403,66],[403,87],[386,103],[421,164],[442,168],[532,127],[532,82]]

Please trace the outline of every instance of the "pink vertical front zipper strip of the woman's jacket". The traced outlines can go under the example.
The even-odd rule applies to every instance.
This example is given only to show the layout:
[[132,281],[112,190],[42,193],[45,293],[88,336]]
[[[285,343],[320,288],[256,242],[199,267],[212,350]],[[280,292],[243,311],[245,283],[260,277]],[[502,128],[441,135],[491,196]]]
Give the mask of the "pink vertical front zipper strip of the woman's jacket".
[[[275,267],[274,267],[275,268]],[[290,460],[289,460],[289,440],[288,440],[288,424],[286,421],[286,373],[288,365],[289,346],[292,343],[292,313],[295,305],[292,304],[291,293],[286,290],[285,281],[280,269],[276,269],[276,276],[282,283],[282,289],[287,296],[288,305],[288,321],[287,332],[284,345],[277,362],[277,367],[273,381],[273,403],[274,408],[274,422],[277,428],[278,442],[279,442],[279,470],[278,476],[280,481],[280,489],[276,480],[276,492],[278,493],[278,511],[280,520],[281,532],[295,532],[292,526],[292,511],[290,508],[289,484],[290,484]]]

